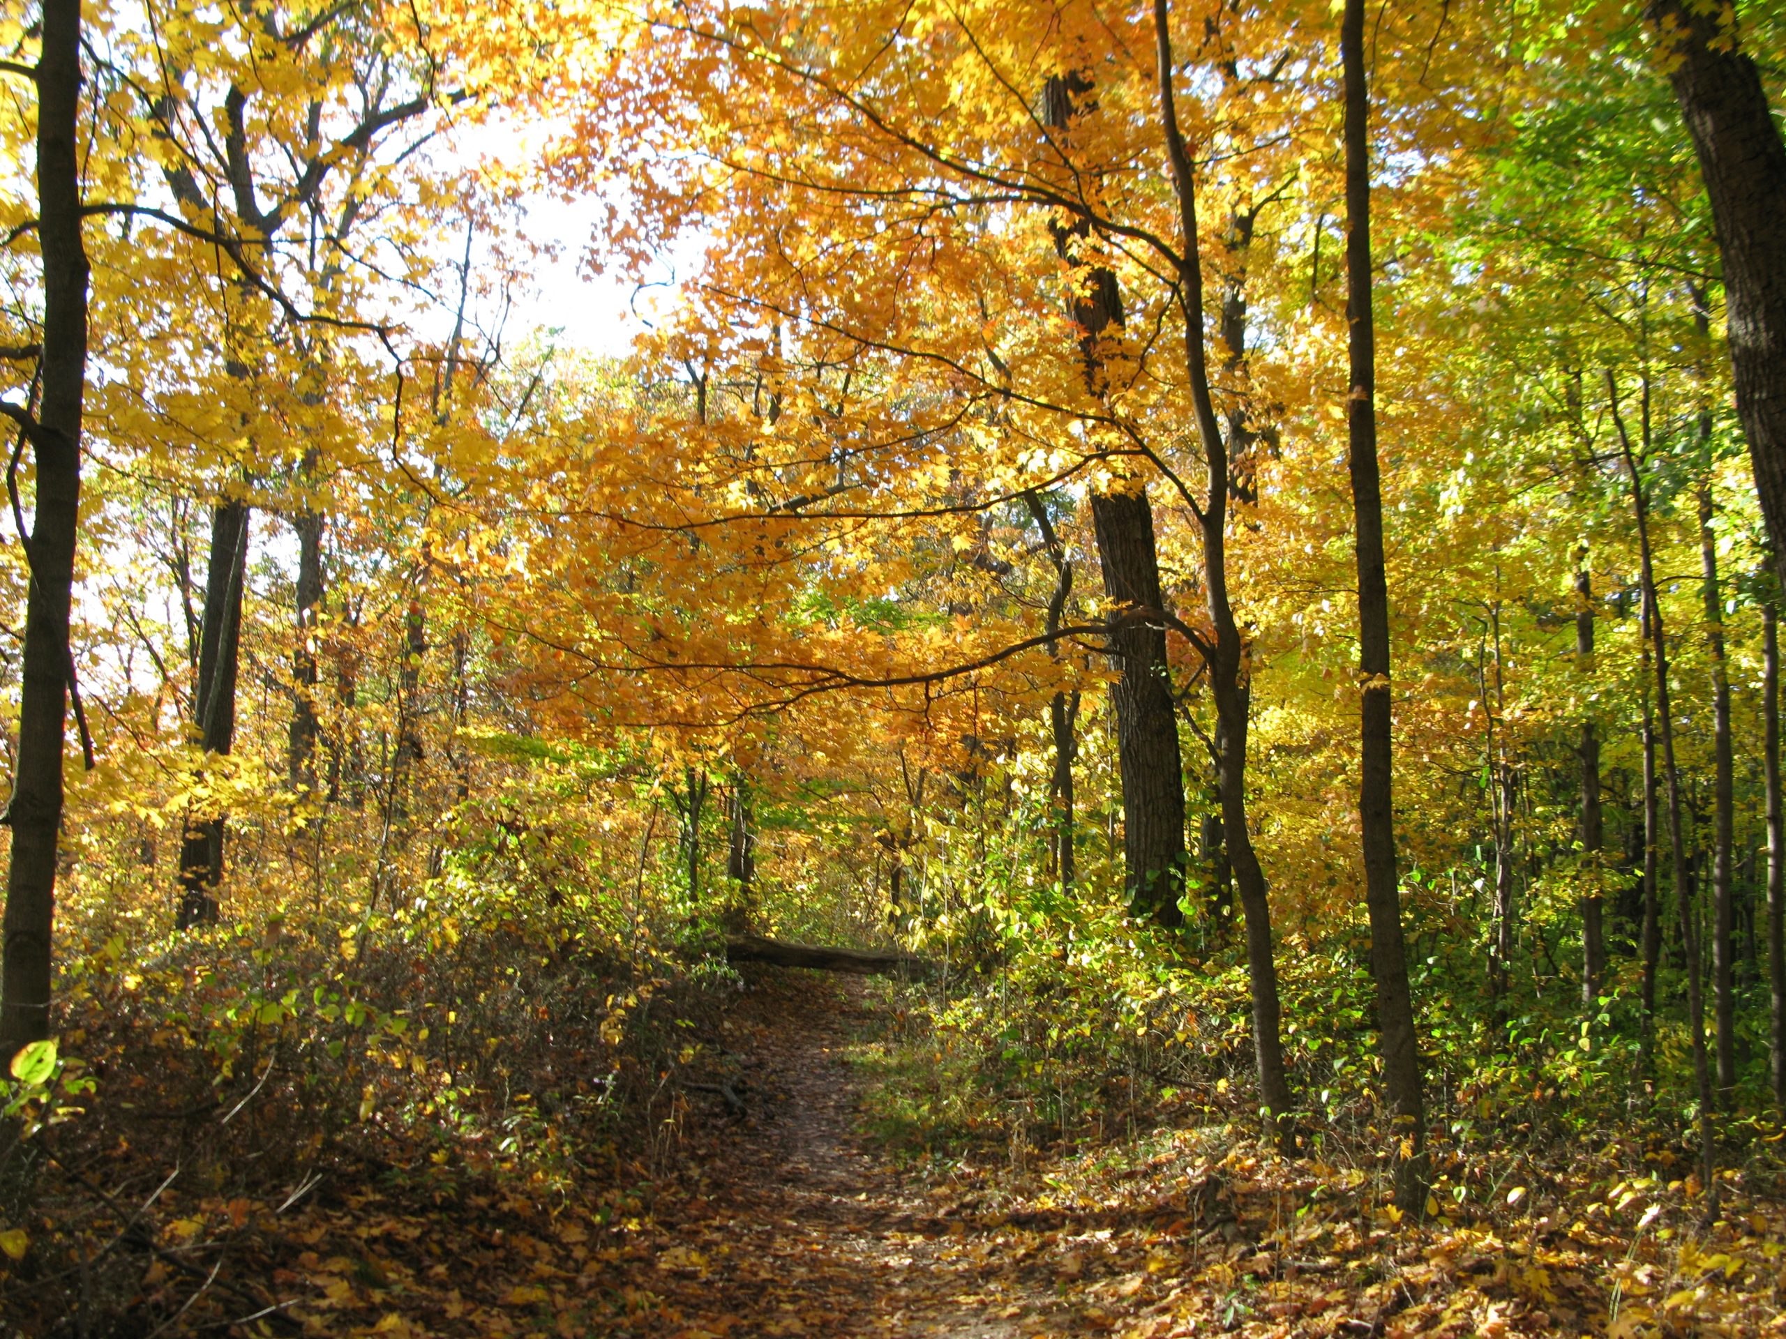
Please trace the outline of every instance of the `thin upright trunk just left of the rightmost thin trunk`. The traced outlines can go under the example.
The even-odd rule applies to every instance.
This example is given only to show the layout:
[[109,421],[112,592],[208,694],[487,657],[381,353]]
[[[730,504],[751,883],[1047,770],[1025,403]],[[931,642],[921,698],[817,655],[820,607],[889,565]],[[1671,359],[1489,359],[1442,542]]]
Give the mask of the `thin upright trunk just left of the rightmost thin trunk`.
[[1718,541],[1711,530],[1711,411],[1700,412],[1706,477],[1698,486],[1698,552],[1706,570],[1706,645],[1711,652],[1713,843],[1711,843],[1711,986],[1718,1019],[1718,1089],[1736,1087],[1734,907],[1731,861],[1736,843],[1736,762],[1731,755],[1731,675],[1723,657],[1723,596],[1718,589]]

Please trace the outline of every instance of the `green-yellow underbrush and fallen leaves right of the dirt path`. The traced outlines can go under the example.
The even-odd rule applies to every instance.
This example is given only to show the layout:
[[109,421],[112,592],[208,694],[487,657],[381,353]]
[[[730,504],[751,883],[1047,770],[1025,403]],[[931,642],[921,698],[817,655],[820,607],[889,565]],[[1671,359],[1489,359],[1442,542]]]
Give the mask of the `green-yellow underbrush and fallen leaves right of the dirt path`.
[[[1556,986],[1493,1002],[1457,964],[1423,964],[1432,1194],[1416,1223],[1390,1202],[1390,1123],[1356,936],[1281,955],[1286,1059],[1304,1102],[1286,1157],[1261,1137],[1238,946],[1189,952],[1184,937],[1091,905],[1047,921],[989,903],[973,912],[972,941],[932,934],[941,969],[927,986],[884,987],[893,1023],[857,1060],[873,1080],[864,1123],[988,1221],[1064,1212],[1097,1225],[1106,1282],[1136,1303],[1154,1298],[1148,1314],[1195,1312],[1220,1328],[1314,1316],[1338,1325],[1345,1318],[1329,1312],[1343,1298],[1359,1334],[1409,1309],[1409,1332],[1632,1335],[1757,1332],[1779,1316],[1786,1130],[1759,1103],[1720,1121],[1722,1214],[1704,1223],[1684,1028],[1665,1018],[1647,1060],[1634,982],[1615,975],[1591,1009]],[[1164,1223],[1170,1269],[1202,1310],[1168,1305],[1170,1289],[1156,1287],[1168,1269]],[[1193,1271],[1195,1289],[1184,1243],[1204,1262],[1197,1271],[1214,1269]],[[1516,1268],[1454,1268],[1507,1243],[1523,1243]],[[1297,1284],[1293,1266],[1340,1269],[1334,1257],[1357,1273],[1322,1303],[1309,1291],[1320,1280]],[[1425,1291],[1370,1291],[1406,1278],[1415,1260],[1431,1266]],[[1095,1282],[1073,1275],[1068,1289]],[[1473,1300],[1452,1307],[1465,1294]],[[1227,1309],[1209,1310],[1211,1298]],[[1132,1310],[1109,1298],[1086,1305],[1102,1328]],[[1181,1330],[1134,1330],[1156,1332]]]

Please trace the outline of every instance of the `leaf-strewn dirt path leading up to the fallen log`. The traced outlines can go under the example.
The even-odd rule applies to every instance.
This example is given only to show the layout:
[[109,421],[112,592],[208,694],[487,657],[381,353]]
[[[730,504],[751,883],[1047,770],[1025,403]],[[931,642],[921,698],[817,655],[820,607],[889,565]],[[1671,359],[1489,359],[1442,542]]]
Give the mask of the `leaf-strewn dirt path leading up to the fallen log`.
[[1061,1334],[1054,1298],[1018,1275],[1009,1243],[950,1230],[855,1134],[847,1052],[866,1021],[848,982],[770,984],[732,1014],[750,1114],[727,1121],[714,1098],[697,1118],[698,1193],[657,1223],[670,1232],[655,1266],[675,1277],[666,1334]]

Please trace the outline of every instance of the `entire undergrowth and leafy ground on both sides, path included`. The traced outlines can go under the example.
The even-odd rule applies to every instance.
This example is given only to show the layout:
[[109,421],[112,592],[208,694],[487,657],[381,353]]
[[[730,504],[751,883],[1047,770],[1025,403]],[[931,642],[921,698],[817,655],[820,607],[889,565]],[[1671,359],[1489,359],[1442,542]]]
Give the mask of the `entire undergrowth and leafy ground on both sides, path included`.
[[[1295,1155],[1261,1139],[1220,944],[995,941],[982,912],[927,980],[863,987],[739,975],[686,923],[629,959],[575,900],[454,886],[352,932],[270,914],[125,953],[86,927],[55,1069],[9,1089],[13,1334],[1781,1328],[1781,1130],[1725,1130],[1706,1225],[1679,1094],[1616,1034],[1572,1091],[1579,1035],[1432,1028],[1406,1216],[1366,1035],[1297,1053],[1322,1105]],[[1361,984],[1286,973],[1318,989],[1343,1016]]]

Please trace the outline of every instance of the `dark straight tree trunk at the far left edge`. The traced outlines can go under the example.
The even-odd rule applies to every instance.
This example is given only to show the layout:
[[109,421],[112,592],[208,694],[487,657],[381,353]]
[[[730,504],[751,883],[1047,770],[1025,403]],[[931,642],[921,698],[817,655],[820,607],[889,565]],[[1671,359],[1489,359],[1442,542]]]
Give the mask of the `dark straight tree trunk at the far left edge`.
[[5,821],[7,868],[0,1052],[50,1035],[55,846],[63,827],[68,611],[80,525],[80,403],[88,375],[88,255],[80,243],[80,0],[45,0],[38,57],[38,241],[43,255],[43,398],[14,418],[38,464],[27,561],[18,761]]

